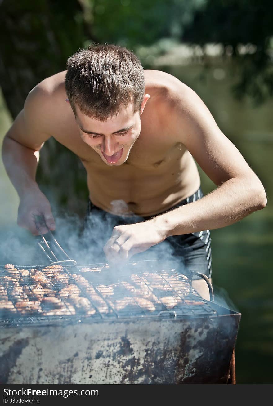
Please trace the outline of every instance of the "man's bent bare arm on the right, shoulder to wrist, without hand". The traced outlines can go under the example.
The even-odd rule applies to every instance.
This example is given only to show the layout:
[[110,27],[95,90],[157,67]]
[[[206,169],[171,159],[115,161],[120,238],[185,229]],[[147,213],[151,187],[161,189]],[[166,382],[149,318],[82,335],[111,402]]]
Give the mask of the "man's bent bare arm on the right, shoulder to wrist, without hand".
[[260,179],[221,132],[202,100],[191,89],[188,92],[176,103],[173,125],[184,129],[181,142],[217,189],[156,217],[155,225],[166,230],[167,236],[225,227],[267,204]]

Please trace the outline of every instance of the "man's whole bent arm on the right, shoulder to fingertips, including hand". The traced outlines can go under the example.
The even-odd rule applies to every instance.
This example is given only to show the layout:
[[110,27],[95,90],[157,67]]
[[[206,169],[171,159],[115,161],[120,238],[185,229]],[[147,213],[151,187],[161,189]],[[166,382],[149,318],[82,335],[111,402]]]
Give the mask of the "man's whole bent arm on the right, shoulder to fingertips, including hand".
[[174,142],[184,144],[217,188],[152,220],[115,227],[104,248],[110,260],[128,259],[171,235],[231,225],[267,204],[260,179],[221,132],[202,100],[189,88],[183,87],[181,96],[177,94],[168,115],[170,133],[182,133]]

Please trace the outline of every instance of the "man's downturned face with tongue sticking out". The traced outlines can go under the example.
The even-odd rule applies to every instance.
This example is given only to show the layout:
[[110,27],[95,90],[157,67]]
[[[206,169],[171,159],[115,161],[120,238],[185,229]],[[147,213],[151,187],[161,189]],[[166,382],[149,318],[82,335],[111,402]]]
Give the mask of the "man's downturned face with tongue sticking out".
[[134,113],[133,104],[129,104],[116,117],[104,122],[86,116],[76,106],[80,137],[100,155],[106,165],[119,166],[128,159],[130,150],[139,137],[140,116],[149,97],[144,96],[140,112]]

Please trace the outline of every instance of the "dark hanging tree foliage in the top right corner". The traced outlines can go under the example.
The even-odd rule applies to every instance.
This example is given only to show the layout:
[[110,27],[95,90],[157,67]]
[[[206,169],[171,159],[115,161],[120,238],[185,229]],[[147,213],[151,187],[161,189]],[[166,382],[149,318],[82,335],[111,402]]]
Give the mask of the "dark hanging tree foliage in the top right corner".
[[250,95],[259,104],[273,96],[272,15],[271,0],[207,0],[181,40],[223,44],[223,53],[236,60],[234,94]]

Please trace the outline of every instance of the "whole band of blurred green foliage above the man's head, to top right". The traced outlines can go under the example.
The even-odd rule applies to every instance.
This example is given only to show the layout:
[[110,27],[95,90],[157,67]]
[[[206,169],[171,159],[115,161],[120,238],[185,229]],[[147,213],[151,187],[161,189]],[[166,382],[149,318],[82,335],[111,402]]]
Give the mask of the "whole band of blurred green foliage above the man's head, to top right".
[[83,1],[89,4],[93,33],[100,42],[118,43],[135,52],[149,46],[147,52],[158,55],[182,41],[200,45],[205,56],[207,43],[219,43],[223,54],[236,60],[234,95],[250,95],[257,103],[272,97],[272,1]]

